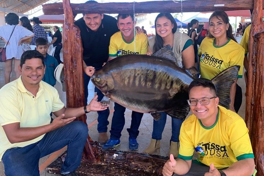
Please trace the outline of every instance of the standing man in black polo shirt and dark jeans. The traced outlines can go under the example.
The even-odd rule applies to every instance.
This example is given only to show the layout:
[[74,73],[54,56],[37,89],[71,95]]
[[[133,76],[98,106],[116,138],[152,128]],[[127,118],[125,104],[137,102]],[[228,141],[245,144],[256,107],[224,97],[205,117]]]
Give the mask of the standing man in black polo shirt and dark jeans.
[[[96,1],[87,1],[86,3],[96,3]],[[104,62],[108,59],[109,54],[109,43],[110,37],[119,31],[117,27],[117,20],[114,17],[93,13],[93,14],[83,14],[83,18],[75,21],[75,25],[80,28],[82,47],[83,47],[83,60],[84,60],[84,70],[87,66],[92,66],[95,70],[102,67]],[[87,67],[86,69],[92,68]],[[84,94],[85,94],[85,105],[87,105],[88,97],[88,83],[90,77],[84,75]],[[103,98],[102,92],[95,88],[98,95],[98,101]],[[98,126],[97,130],[99,132],[98,142],[103,145],[108,141],[107,136],[107,125],[109,124],[108,116],[109,109],[104,111],[98,111]]]

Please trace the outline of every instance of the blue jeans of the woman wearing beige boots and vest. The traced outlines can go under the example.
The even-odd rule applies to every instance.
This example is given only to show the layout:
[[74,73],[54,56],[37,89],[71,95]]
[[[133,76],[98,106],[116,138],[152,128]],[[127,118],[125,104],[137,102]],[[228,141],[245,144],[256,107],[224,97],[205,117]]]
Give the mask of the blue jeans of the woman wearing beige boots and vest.
[[[167,114],[165,112],[161,112],[160,120],[156,121],[153,119],[153,131],[152,131],[152,139],[161,140],[161,136],[166,124]],[[179,142],[180,129],[182,126],[182,119],[171,118],[171,138],[170,141]]]

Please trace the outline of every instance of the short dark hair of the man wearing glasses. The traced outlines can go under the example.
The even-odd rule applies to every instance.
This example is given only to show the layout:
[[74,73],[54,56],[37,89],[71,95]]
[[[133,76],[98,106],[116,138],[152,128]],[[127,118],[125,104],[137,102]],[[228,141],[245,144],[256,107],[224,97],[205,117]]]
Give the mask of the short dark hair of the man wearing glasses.
[[208,87],[210,89],[211,93],[216,95],[216,89],[215,89],[213,82],[211,80],[205,79],[205,78],[194,79],[188,87],[188,93],[190,93],[190,90],[193,87],[198,87],[198,86],[202,86],[204,88]]

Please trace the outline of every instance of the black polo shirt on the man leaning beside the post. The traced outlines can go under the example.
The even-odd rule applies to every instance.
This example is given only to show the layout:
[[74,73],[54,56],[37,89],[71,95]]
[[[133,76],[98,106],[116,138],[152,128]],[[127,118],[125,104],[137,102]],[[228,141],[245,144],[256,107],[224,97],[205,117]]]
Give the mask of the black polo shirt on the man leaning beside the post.
[[78,19],[74,24],[81,31],[84,62],[86,65],[101,68],[109,56],[110,38],[119,31],[117,20],[104,14],[101,25],[96,32],[86,26],[83,18]]

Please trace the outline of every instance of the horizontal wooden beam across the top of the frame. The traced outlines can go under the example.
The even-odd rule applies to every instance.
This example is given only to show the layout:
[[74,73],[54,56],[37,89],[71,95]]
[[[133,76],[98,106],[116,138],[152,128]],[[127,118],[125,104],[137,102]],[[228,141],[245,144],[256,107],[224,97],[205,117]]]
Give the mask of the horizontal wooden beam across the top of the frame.
[[[63,14],[62,3],[43,4],[45,15]],[[180,13],[180,1],[148,1],[119,3],[71,4],[74,14],[78,13]],[[262,6],[263,7],[263,6]],[[253,0],[187,0],[182,1],[183,12],[232,11],[253,9]]]

